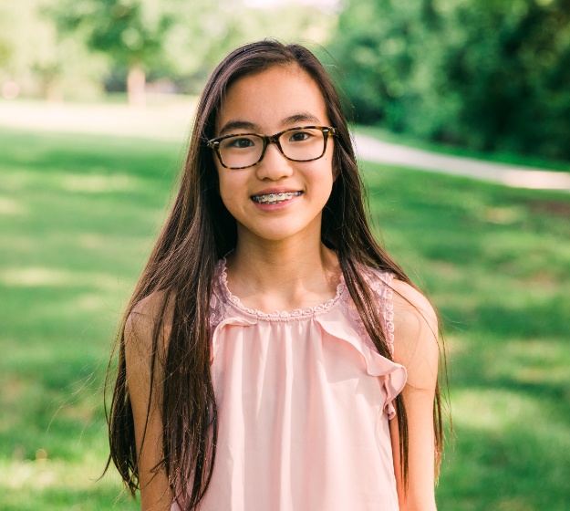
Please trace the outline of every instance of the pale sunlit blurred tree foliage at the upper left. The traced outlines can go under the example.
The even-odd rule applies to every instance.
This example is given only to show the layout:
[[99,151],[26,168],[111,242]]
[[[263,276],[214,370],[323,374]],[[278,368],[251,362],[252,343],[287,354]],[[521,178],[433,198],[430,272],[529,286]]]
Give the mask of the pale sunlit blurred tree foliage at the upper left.
[[[242,0],[23,0],[0,5],[0,84],[28,75],[34,85],[43,76],[70,81],[96,61],[91,81],[99,88],[110,78],[113,89],[124,89],[129,70],[138,68],[198,93],[234,47],[269,36],[322,43],[336,20],[314,5],[265,8]],[[57,88],[61,79],[52,82]]]

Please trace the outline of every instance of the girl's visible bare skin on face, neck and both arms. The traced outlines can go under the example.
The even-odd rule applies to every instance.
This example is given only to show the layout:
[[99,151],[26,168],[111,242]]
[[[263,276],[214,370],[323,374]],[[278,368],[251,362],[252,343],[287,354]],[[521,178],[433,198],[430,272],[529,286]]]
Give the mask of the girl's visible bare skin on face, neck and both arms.
[[[242,127],[235,127],[235,123]],[[234,128],[227,130],[229,123]],[[244,123],[251,130],[244,130]],[[329,126],[326,106],[316,83],[295,67],[269,68],[236,81],[223,102],[217,136],[232,132],[273,134],[288,127]],[[341,270],[337,256],[320,241],[322,210],[334,181],[334,138],[326,154],[314,162],[290,162],[270,145],[264,160],[243,170],[228,170],[215,158],[220,194],[237,222],[237,245],[227,259],[228,285],[248,308],[265,312],[306,308],[334,297]],[[267,189],[303,192],[292,203],[264,211],[252,195]],[[437,322],[428,300],[408,284],[395,280],[395,360],[408,370],[403,391],[409,419],[409,487],[399,478],[399,437],[396,419],[390,422],[399,506],[403,511],[431,511],[434,497],[432,407],[437,378]],[[133,405],[137,448],[140,450],[140,495],[144,511],[168,510],[172,495],[166,477],[150,469],[160,459],[160,392],[150,403],[151,326],[159,297],[150,296],[133,310],[125,328],[127,371]],[[166,321],[168,324],[168,320]],[[168,331],[164,332],[166,349]],[[160,370],[155,382],[161,381]],[[160,390],[160,386],[155,387]]]

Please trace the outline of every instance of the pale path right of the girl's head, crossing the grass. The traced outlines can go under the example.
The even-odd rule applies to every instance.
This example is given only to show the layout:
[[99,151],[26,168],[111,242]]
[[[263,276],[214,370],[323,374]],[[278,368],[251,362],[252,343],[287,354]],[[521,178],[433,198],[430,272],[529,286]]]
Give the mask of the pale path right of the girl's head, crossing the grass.
[[502,163],[482,162],[472,158],[448,156],[378,141],[358,134],[355,135],[355,140],[358,157],[367,162],[390,163],[428,172],[471,177],[516,188],[570,192],[570,173],[566,172],[543,171],[529,167],[515,167]]

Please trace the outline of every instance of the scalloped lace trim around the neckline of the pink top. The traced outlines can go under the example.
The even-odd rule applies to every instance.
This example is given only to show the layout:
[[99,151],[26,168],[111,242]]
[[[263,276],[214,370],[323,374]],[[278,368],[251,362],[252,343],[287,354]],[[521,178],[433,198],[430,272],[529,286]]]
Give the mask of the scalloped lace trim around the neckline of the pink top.
[[337,293],[335,297],[326,300],[325,303],[316,305],[314,307],[295,308],[294,310],[275,310],[275,312],[264,312],[256,308],[245,307],[240,298],[233,295],[233,293],[230,291],[230,288],[228,287],[228,274],[227,274],[225,257],[220,259],[220,261],[218,262],[218,272],[219,272],[218,282],[220,284],[220,289],[222,291],[223,298],[227,300],[230,304],[232,304],[235,308],[241,310],[245,314],[254,316],[255,318],[259,319],[284,321],[289,319],[313,317],[316,316],[317,314],[322,314],[324,312],[327,312],[331,308],[334,308],[347,291],[347,287],[345,285],[345,278],[341,274],[340,281],[338,282],[337,285]]

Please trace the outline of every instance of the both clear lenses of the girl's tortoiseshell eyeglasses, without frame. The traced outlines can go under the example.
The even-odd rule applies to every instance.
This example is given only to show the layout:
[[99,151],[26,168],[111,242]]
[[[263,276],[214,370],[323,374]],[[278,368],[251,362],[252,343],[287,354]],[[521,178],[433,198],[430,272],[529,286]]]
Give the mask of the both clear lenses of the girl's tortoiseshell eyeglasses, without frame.
[[[279,137],[285,156],[297,162],[315,160],[325,151],[325,135],[321,130],[285,131]],[[236,135],[223,139],[219,146],[224,165],[233,168],[249,167],[259,162],[264,151],[264,139],[258,135]]]

